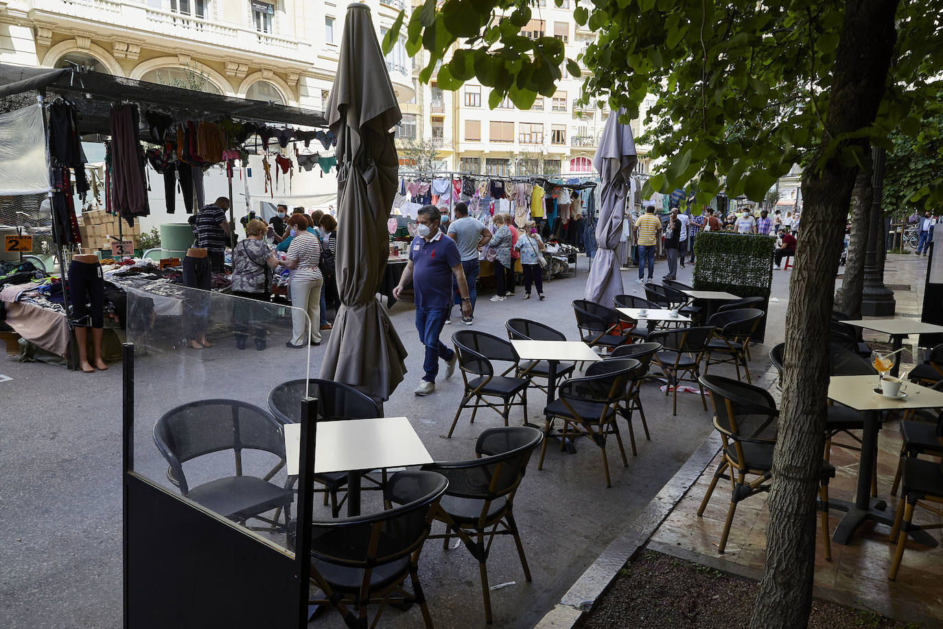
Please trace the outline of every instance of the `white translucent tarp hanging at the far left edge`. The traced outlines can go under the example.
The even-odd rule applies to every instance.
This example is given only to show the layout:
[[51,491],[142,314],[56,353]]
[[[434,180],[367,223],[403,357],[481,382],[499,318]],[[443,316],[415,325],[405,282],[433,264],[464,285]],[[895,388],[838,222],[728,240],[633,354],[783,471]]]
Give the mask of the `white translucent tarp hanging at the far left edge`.
[[0,173],[2,196],[49,191],[49,160],[40,105],[0,115]]

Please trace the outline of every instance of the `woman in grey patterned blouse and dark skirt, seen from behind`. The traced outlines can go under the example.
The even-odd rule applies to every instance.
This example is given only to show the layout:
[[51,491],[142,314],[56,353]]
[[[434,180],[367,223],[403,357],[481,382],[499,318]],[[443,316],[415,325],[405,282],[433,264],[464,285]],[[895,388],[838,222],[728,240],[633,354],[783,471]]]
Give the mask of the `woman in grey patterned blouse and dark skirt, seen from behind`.
[[272,271],[278,266],[272,248],[262,240],[267,231],[266,224],[258,219],[249,221],[245,239],[233,247],[233,295],[242,298],[233,305],[233,334],[240,350],[245,349],[249,334],[256,337],[256,350],[265,349],[265,306],[255,302],[269,301]]

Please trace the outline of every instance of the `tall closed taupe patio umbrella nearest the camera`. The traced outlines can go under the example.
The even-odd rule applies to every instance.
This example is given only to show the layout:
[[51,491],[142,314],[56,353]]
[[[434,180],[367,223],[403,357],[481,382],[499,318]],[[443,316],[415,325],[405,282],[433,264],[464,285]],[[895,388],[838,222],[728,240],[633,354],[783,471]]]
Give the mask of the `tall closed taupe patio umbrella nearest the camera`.
[[347,8],[338,74],[325,114],[338,138],[341,306],[321,377],[386,400],[406,371],[405,347],[375,297],[387,266],[387,220],[399,173],[390,129],[402,114],[366,5]]

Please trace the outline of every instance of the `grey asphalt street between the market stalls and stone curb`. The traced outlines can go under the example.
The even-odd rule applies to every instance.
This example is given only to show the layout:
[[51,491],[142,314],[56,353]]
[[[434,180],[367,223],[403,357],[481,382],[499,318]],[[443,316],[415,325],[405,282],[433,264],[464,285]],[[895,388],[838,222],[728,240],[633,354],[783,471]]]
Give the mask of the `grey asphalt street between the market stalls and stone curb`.
[[[666,273],[659,261],[656,277]],[[681,281],[691,268],[679,269]],[[635,283],[636,270],[623,272],[626,292],[644,295]],[[769,305],[767,342],[753,347],[751,369],[769,367],[769,347],[783,338],[789,273],[774,272]],[[490,302],[486,290],[476,308],[473,329],[506,338],[511,317],[548,323],[578,339],[571,300],[582,298],[587,259],[580,257],[575,275],[545,285],[546,301],[523,301],[522,287],[504,302]],[[397,304],[391,320],[405,344],[409,372],[385,406],[387,416],[409,418],[437,460],[473,456],[474,441],[501,418],[484,409],[474,423],[470,412],[459,419],[452,439],[446,439],[461,392],[459,374],[441,378],[437,390],[419,398],[412,390],[422,376],[422,346],[413,325],[410,304]],[[458,318],[447,325],[446,340],[459,328]],[[196,399],[231,397],[266,406],[270,389],[279,382],[304,377],[320,369],[322,347],[306,352],[285,347],[287,328],[277,328],[264,352],[238,351],[228,333],[210,338],[217,344],[203,351],[187,348],[148,353],[136,359],[136,469],[159,483],[166,480],[166,463],[157,453],[152,428],[167,409]],[[329,333],[328,333],[329,334]],[[152,339],[154,340],[154,339]],[[155,341],[156,342],[156,341]],[[446,340],[448,342],[448,340]],[[122,621],[121,557],[121,365],[108,372],[70,372],[42,363],[0,361],[0,626],[118,627]],[[444,371],[444,370],[443,370]],[[717,372],[733,372],[721,366]],[[671,415],[670,396],[655,383],[642,389],[652,439],[646,440],[636,422],[637,456],[622,467],[618,448],[607,448],[612,488],[605,488],[599,449],[586,439],[576,454],[548,449],[542,471],[537,456],[531,461],[515,502],[524,548],[533,574],[526,583],[510,538],[498,539],[488,561],[494,626],[532,627],[556,603],[587,566],[617,538],[660,488],[684,464],[711,432],[711,413],[700,396],[679,393],[678,414]],[[529,396],[532,421],[541,420],[545,399],[535,389]],[[511,414],[521,423],[520,408]],[[622,426],[624,433],[624,423]],[[259,468],[264,461],[253,461]],[[222,463],[221,463],[222,464]],[[194,472],[194,480],[199,472]],[[284,472],[282,472],[284,474]],[[282,482],[284,475],[274,482]],[[365,494],[366,495],[366,494]],[[365,498],[369,508],[371,497]],[[316,517],[328,511],[315,505]],[[478,568],[464,548],[443,551],[426,545],[420,575],[434,621],[442,627],[486,626],[482,612]],[[418,609],[389,609],[382,626],[412,627],[421,622]],[[311,626],[341,627],[337,614],[327,610]]]

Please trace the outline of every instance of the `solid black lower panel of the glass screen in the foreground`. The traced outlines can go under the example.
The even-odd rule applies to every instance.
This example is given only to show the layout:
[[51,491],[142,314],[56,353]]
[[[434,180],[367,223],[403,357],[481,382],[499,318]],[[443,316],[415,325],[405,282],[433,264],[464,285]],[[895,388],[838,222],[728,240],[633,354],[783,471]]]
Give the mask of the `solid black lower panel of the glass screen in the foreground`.
[[294,557],[124,474],[125,626],[298,627]]

